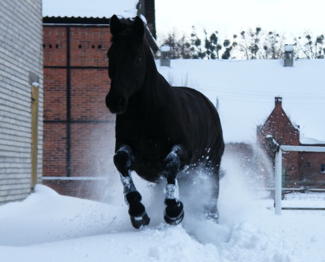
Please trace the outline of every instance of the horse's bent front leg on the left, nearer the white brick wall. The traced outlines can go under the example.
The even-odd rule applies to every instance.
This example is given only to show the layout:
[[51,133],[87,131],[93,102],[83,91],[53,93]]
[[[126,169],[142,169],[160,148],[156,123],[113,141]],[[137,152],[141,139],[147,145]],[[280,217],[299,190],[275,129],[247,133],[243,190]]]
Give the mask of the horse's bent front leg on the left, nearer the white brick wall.
[[121,182],[124,188],[124,198],[128,205],[128,214],[131,223],[135,228],[148,225],[150,218],[148,217],[145,207],[141,203],[141,195],[136,189],[131,177],[131,165],[133,154],[127,145],[120,147],[114,155],[114,164],[121,176]]

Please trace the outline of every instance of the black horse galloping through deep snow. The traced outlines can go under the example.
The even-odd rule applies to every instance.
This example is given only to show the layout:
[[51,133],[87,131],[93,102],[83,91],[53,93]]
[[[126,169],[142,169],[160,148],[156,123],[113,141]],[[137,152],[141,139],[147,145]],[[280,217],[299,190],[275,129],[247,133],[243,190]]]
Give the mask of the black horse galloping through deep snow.
[[165,221],[184,217],[177,174],[201,166],[213,174],[215,190],[206,217],[218,221],[219,165],[224,149],[222,129],[213,104],[200,92],[172,87],[155,66],[145,41],[141,18],[110,20],[108,51],[111,88],[106,105],[116,113],[114,164],[120,172],[128,213],[134,227],[149,224],[131,171],[147,181],[167,180]]

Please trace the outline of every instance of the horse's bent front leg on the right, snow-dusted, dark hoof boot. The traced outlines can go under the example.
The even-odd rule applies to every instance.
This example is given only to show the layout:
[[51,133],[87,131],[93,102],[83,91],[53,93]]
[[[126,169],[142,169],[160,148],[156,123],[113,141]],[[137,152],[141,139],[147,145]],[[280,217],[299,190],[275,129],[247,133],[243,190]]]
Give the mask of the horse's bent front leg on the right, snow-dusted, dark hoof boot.
[[171,152],[164,160],[164,176],[166,185],[166,209],[164,219],[172,225],[179,224],[184,218],[183,203],[179,200],[177,173],[181,167],[181,159],[184,159],[185,151],[180,145],[174,145]]

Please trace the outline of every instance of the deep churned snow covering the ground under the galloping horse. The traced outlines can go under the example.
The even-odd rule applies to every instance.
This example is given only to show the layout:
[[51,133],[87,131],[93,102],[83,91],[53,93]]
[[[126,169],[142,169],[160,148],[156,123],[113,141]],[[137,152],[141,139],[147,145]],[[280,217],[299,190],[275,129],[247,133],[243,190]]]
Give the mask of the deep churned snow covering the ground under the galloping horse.
[[[257,191],[254,174],[243,177],[225,158],[220,181],[220,223],[203,219],[201,204],[211,184],[202,173],[180,183],[185,218],[163,219],[164,190],[134,176],[151,216],[132,227],[118,175],[104,202],[58,195],[42,185],[22,202],[0,207],[1,261],[325,261],[324,211],[274,214],[272,199]],[[258,193],[256,193],[258,192]],[[325,207],[325,194],[288,196],[283,206]]]

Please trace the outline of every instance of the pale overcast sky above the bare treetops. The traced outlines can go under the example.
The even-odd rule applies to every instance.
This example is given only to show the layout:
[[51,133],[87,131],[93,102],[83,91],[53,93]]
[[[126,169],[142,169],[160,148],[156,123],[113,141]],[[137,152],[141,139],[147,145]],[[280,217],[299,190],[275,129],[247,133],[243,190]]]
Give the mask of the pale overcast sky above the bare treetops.
[[324,7],[322,0],[156,0],[156,28],[158,33],[173,27],[190,32],[194,25],[229,37],[256,26],[288,37],[325,34]]

